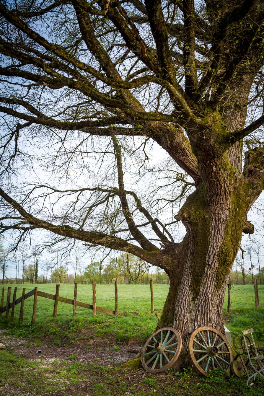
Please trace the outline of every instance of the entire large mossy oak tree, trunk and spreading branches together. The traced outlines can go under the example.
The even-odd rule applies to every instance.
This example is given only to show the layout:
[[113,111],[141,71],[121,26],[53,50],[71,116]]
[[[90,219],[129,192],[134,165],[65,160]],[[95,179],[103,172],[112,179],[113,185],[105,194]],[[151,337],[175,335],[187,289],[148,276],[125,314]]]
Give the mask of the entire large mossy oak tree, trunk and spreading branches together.
[[[264,188],[263,2],[21,0],[0,12],[2,232],[22,240],[45,229],[164,269],[159,326],[180,331],[183,361],[196,327],[222,330],[228,276]],[[53,171],[78,169],[81,188],[15,179],[41,157],[40,136],[54,148]],[[145,166],[151,142],[167,153],[163,168]],[[140,148],[139,171],[165,180],[156,200],[125,182]],[[112,185],[90,183],[92,155],[93,175],[106,159]],[[64,212],[54,209],[61,196]],[[180,199],[175,220],[162,223]],[[181,223],[186,235],[176,241]]]

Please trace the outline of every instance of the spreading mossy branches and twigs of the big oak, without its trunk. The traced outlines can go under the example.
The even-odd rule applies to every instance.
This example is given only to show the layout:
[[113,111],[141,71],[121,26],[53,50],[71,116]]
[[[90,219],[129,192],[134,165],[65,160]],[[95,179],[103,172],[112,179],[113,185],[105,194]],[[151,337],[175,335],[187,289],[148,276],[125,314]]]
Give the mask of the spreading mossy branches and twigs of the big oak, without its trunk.
[[217,183],[206,159],[262,169],[263,3],[21,0],[0,12],[1,232],[19,243],[45,229],[51,246],[73,238],[169,272],[180,204]]

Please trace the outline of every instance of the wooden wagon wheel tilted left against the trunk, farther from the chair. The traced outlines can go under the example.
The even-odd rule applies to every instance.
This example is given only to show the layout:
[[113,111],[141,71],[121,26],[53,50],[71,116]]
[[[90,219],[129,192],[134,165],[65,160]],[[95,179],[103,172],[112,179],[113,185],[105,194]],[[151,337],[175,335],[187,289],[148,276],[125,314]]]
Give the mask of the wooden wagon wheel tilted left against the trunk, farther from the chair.
[[[141,355],[142,366],[150,373],[163,373],[179,358],[182,337],[173,327],[163,327],[146,341]],[[158,366],[158,368],[155,368]]]

